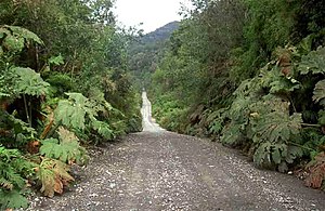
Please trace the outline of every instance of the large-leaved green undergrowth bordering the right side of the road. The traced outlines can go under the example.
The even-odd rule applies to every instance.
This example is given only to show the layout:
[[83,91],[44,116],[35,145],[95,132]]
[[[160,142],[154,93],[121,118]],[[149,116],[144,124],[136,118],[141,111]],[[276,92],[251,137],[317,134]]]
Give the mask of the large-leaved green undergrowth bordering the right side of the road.
[[288,172],[309,162],[306,185],[324,188],[325,48],[311,51],[306,43],[277,49],[227,107],[180,109],[162,98],[154,111],[167,129],[243,149],[258,168]]

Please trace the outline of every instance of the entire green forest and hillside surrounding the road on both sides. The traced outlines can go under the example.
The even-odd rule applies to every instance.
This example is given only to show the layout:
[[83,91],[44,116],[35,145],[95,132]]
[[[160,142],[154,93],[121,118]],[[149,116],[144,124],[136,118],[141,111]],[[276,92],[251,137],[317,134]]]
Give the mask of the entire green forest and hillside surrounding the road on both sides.
[[[325,183],[325,1],[191,0],[140,36],[112,0],[0,1],[0,209],[75,182],[88,148],[164,128]],[[141,31],[141,30],[140,30]]]

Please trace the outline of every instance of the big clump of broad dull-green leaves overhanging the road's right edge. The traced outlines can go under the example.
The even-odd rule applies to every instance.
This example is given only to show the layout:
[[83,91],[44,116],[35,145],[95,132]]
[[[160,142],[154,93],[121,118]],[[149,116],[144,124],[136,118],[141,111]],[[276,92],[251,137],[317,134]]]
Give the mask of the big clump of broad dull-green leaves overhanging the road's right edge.
[[221,141],[236,146],[248,144],[253,147],[257,166],[287,171],[287,164],[303,156],[302,148],[291,145],[300,135],[302,116],[290,115],[287,97],[301,84],[281,74],[271,62],[259,77],[242,82],[234,92],[236,98],[229,110],[231,123],[222,131]]

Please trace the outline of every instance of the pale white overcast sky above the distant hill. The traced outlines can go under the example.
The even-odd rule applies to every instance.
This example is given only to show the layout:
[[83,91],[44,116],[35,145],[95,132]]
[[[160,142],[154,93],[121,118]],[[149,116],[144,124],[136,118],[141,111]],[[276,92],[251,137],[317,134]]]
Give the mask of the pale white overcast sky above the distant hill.
[[181,2],[187,0],[116,0],[114,13],[122,25],[141,26],[150,32],[172,21],[180,21]]

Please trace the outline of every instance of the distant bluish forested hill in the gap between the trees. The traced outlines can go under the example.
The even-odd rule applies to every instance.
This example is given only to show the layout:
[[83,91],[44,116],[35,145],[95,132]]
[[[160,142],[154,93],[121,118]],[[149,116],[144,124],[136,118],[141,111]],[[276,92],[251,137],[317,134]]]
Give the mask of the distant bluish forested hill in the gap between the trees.
[[139,85],[142,87],[143,83],[147,83],[148,75],[157,68],[157,64],[162,57],[162,49],[165,49],[172,32],[179,28],[179,22],[171,22],[138,38],[130,44],[129,68],[134,80],[138,79]]

